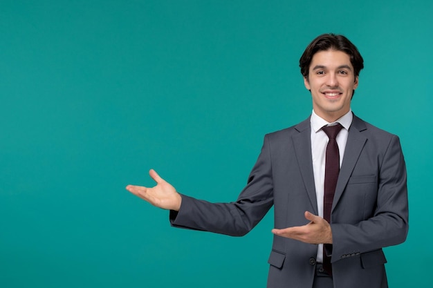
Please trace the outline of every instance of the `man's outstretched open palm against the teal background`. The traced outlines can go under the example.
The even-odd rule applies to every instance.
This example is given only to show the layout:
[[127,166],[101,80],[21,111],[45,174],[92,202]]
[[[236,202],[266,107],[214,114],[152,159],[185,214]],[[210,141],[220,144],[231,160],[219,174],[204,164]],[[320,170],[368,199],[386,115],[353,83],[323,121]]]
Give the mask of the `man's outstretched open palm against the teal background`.
[[182,197],[176,192],[176,189],[159,177],[158,173],[151,169],[149,171],[150,177],[156,182],[153,188],[143,186],[128,185],[127,191],[133,193],[150,204],[167,210],[179,211],[181,208]]

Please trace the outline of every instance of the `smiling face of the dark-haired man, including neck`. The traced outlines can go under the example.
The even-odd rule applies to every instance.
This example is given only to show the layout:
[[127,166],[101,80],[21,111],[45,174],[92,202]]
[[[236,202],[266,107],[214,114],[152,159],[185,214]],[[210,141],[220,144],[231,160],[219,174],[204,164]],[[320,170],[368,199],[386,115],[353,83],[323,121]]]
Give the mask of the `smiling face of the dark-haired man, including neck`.
[[353,90],[358,87],[349,55],[336,50],[317,52],[308,71],[304,84],[311,91],[314,112],[328,122],[349,112]]

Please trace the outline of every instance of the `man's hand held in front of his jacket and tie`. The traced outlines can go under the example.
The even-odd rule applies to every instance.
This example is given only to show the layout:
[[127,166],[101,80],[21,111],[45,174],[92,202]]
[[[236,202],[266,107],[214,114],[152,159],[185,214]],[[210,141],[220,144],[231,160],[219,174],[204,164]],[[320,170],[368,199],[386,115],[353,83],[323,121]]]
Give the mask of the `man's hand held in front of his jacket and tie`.
[[307,220],[310,220],[308,224],[285,229],[272,229],[272,233],[309,244],[332,244],[331,225],[322,217],[308,211],[305,211],[304,215]]

